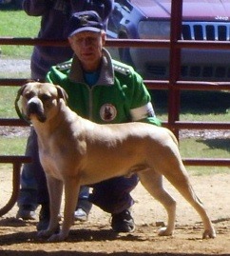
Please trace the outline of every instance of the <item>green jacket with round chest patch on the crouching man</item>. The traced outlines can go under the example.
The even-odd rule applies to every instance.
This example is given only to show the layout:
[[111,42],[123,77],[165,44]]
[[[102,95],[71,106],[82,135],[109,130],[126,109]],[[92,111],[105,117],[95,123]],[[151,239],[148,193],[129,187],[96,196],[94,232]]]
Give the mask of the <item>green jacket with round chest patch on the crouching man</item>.
[[97,83],[89,87],[76,56],[54,66],[47,81],[67,91],[68,107],[98,124],[143,121],[160,126],[142,77],[131,67],[112,60],[103,49]]

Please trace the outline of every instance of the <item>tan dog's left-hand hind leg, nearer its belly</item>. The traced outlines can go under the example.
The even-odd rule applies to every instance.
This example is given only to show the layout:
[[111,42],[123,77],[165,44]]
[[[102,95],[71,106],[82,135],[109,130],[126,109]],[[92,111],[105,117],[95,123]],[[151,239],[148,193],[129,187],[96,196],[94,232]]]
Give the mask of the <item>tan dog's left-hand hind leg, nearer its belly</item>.
[[167,226],[163,226],[159,229],[159,235],[172,235],[176,221],[176,201],[163,188],[163,175],[154,170],[142,171],[139,172],[138,175],[145,189],[166,209],[168,216]]

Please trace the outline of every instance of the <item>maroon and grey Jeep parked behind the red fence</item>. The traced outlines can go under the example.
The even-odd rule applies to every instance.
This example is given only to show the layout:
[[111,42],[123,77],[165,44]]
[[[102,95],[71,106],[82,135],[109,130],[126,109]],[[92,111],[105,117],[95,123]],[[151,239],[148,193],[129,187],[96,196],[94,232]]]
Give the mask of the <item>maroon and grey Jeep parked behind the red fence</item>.
[[[108,38],[169,39],[170,0],[115,0]],[[230,40],[230,1],[183,0],[182,40]],[[169,49],[116,49],[144,79],[168,79]],[[230,49],[182,49],[182,80],[230,81]]]

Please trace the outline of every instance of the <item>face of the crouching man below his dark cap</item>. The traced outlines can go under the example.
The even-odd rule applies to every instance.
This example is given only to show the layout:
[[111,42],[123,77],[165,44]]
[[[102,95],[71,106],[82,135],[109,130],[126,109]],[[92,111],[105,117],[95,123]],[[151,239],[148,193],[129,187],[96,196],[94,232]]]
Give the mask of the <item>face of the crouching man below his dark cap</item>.
[[71,48],[82,63],[83,69],[86,71],[94,71],[98,69],[102,49],[105,45],[105,33],[83,31],[68,37]]

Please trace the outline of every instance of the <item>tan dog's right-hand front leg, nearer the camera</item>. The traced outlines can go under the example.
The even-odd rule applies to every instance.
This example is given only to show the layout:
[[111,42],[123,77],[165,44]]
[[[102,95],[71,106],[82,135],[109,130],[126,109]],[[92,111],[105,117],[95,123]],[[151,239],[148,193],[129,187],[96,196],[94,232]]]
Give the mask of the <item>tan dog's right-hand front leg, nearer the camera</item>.
[[77,205],[78,194],[80,189],[79,180],[73,177],[67,177],[65,180],[65,208],[64,208],[64,221],[62,228],[58,234],[53,234],[48,241],[49,242],[60,242],[64,241],[73,224],[74,210]]

